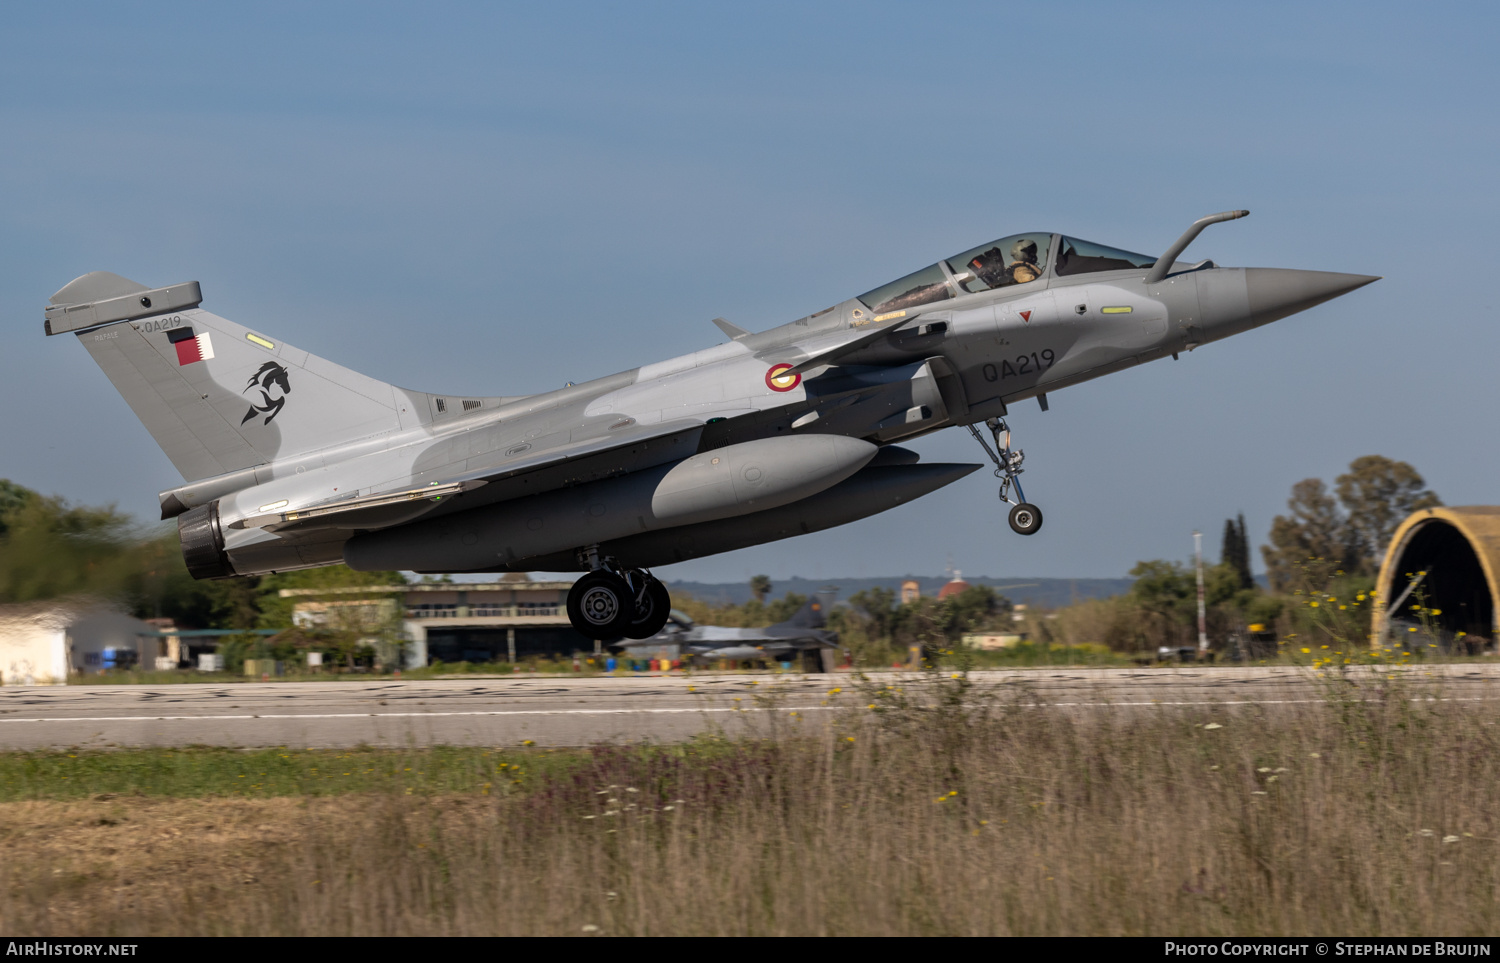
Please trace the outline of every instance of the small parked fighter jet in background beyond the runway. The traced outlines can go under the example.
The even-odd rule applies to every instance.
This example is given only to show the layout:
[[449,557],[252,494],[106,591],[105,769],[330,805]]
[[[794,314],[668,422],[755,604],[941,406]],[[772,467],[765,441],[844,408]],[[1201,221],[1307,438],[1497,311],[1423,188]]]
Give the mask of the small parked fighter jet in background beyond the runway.
[[[838,652],[838,633],[825,628],[828,608],[836,592],[819,592],[807,600],[792,618],[764,628],[732,628],[699,626],[676,609],[668,615],[662,632],[639,642],[626,642],[627,657],[668,658],[687,657],[699,663],[714,662],[801,662],[810,672],[832,669]],[[825,656],[826,652],[826,656]]]

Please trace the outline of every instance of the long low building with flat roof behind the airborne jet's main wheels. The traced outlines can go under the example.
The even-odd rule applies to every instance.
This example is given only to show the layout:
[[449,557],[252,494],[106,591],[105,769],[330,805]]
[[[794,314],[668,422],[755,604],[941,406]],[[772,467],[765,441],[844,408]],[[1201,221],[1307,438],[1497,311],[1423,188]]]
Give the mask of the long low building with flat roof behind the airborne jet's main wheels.
[[435,662],[518,662],[592,652],[567,618],[572,582],[534,582],[525,574],[498,582],[372,585],[358,588],[284,588],[292,621],[303,628],[358,630],[399,618],[405,664]]

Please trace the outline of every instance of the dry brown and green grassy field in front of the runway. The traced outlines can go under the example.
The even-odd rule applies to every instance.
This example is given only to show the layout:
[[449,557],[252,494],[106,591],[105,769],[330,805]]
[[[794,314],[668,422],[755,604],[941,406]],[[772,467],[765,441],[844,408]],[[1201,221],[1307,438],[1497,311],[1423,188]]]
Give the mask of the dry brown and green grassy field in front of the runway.
[[0,928],[1494,933],[1500,716],[1410,686],[1068,714],[934,676],[742,741],[12,753]]

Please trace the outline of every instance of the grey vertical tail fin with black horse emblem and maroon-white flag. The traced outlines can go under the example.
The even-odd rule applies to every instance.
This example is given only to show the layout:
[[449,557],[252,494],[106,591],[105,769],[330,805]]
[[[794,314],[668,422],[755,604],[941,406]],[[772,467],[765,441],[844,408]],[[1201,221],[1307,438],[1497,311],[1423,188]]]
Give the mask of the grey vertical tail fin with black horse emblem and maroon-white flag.
[[94,272],[63,286],[46,333],[75,332],[186,480],[420,423],[412,393],[202,310],[198,282]]

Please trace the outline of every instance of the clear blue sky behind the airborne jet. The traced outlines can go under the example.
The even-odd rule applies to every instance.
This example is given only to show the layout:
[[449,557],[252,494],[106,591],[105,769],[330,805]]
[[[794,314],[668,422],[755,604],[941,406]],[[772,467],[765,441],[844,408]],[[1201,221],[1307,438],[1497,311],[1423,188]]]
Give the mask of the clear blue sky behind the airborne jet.
[[[988,472],[675,566],[1119,576],[1410,460],[1500,502],[1492,4],[6,4],[0,477],[153,518],[178,482],[42,308],[88,270],[420,390],[519,394],[825,308],[993,237],[1383,274],[1012,417]],[[976,460],[957,429],[927,460]],[[1258,560],[1257,560],[1258,562]]]

